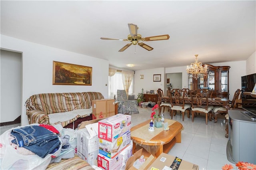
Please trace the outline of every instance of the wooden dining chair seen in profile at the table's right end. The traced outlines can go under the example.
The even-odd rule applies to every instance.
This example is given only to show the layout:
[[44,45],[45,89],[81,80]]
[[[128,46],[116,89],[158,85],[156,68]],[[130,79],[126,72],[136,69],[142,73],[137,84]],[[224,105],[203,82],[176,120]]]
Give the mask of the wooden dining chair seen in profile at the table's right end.
[[[239,97],[240,93],[241,93],[240,89],[237,89],[235,91],[235,94],[234,94],[233,99],[232,99],[232,103],[229,105],[230,108],[235,109],[235,108],[238,107],[238,105],[236,104],[236,101],[238,100],[238,97]],[[217,123],[217,115],[219,113],[224,113],[226,115],[226,114],[228,114],[228,110],[226,109],[226,107],[215,106],[213,108],[213,113],[214,114],[213,114],[212,119],[215,119],[214,123]]]

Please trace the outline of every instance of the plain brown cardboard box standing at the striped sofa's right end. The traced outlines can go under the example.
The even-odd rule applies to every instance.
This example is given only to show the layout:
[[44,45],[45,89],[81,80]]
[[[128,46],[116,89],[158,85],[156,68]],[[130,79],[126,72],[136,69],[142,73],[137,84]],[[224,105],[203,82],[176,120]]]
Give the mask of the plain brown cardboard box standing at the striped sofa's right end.
[[92,101],[92,119],[100,119],[115,115],[115,100],[100,99]]

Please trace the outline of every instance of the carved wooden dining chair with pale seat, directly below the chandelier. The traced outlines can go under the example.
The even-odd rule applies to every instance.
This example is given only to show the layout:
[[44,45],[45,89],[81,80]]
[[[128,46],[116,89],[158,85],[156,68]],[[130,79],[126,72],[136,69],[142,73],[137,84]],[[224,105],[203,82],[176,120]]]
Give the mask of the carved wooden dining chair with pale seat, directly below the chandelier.
[[191,95],[191,110],[192,110],[192,122],[194,122],[194,114],[203,113],[205,114],[205,122],[208,124],[208,114],[209,121],[212,121],[212,105],[208,105],[208,96],[210,91],[207,89],[196,89],[194,91],[190,91]]

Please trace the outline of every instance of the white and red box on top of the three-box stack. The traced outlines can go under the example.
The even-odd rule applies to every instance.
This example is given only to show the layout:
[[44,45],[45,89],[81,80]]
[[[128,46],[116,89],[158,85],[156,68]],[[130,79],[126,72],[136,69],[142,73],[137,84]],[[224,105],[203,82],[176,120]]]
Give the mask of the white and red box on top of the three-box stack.
[[98,126],[99,138],[113,142],[131,129],[131,116],[120,113],[99,121]]

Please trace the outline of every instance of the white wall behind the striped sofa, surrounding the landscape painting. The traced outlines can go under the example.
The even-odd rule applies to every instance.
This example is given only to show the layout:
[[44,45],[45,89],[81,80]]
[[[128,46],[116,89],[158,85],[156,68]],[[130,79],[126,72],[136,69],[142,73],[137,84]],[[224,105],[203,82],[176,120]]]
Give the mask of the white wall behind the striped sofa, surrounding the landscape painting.
[[[28,125],[25,102],[38,93],[97,91],[108,98],[108,61],[26,42],[1,35],[1,48],[21,51],[22,55],[22,126]],[[52,85],[53,61],[92,67],[92,85]]]

